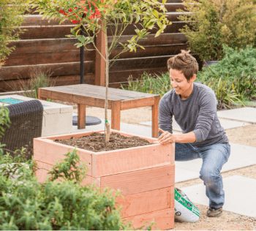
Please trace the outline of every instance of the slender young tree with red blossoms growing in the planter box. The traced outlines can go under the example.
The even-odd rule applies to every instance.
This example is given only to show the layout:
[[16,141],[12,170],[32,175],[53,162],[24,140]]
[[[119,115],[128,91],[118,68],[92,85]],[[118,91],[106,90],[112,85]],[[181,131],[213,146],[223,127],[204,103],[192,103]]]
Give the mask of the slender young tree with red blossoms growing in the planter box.
[[[108,122],[108,74],[110,64],[121,53],[136,52],[143,48],[138,42],[146,39],[154,30],[155,37],[159,36],[170,21],[166,18],[165,1],[162,0],[34,0],[38,10],[47,18],[59,18],[61,22],[70,20],[76,24],[69,37],[78,39],[78,47],[92,44],[100,56],[105,60],[105,140],[110,137],[110,124]],[[135,35],[127,41],[122,41],[121,35],[128,26],[134,26]],[[83,33],[80,30],[83,29]],[[99,33],[105,34],[105,50],[99,50],[96,37]],[[111,39],[108,41],[108,35]],[[110,54],[115,48],[121,51],[110,60]]]

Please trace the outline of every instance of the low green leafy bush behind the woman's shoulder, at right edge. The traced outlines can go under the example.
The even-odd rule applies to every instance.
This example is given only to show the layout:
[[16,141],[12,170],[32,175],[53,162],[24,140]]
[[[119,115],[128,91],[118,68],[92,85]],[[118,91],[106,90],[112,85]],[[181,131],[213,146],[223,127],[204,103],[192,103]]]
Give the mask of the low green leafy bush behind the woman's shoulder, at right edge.
[[253,99],[256,96],[256,48],[224,47],[223,50],[224,58],[215,65],[204,67],[197,75],[198,80],[213,88],[221,107]]

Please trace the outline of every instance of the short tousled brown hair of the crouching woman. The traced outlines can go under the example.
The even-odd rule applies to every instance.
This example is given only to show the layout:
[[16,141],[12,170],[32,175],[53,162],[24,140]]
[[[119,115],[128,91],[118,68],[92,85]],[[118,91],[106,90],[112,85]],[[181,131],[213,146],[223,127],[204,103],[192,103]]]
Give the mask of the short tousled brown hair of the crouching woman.
[[197,60],[187,50],[181,50],[181,53],[178,53],[178,55],[170,57],[167,60],[167,67],[168,70],[178,69],[188,81],[198,72]]

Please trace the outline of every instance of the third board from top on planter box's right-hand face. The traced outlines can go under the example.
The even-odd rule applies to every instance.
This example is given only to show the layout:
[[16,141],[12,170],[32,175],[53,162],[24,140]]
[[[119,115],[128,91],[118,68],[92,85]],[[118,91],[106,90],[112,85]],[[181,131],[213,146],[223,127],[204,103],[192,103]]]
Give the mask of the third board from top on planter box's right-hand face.
[[[131,194],[126,197],[118,197],[116,203],[121,206],[121,216],[125,218],[166,208],[173,208],[173,202],[170,202],[170,194],[172,193],[174,193],[173,187],[167,187],[164,189]],[[170,205],[170,203],[172,205]]]

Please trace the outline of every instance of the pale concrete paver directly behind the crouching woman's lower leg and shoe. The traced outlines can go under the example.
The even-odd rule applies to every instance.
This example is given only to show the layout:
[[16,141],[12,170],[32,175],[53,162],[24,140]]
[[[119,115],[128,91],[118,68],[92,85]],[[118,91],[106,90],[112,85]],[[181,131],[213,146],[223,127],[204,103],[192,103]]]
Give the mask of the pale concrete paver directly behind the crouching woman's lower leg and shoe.
[[[223,178],[225,205],[223,209],[245,216],[256,217],[256,180],[241,175]],[[208,206],[206,188],[203,183],[181,189],[192,202]]]

